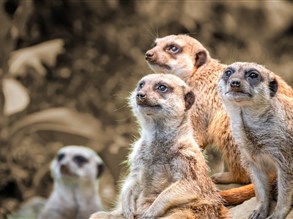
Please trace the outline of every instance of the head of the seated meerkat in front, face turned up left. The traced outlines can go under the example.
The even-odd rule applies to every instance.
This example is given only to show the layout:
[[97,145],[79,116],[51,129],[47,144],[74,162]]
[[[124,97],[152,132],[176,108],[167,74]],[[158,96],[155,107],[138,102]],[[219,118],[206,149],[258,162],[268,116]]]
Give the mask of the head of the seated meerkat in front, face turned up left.
[[130,97],[136,116],[178,117],[192,106],[194,94],[180,78],[170,74],[143,77]]

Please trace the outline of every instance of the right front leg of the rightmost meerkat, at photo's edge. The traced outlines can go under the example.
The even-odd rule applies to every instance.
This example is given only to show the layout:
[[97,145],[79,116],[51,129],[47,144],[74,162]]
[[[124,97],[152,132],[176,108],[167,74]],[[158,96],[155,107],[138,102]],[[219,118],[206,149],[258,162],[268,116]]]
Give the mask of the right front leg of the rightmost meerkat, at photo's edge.
[[268,219],[285,219],[291,210],[293,196],[292,172],[278,168],[278,201],[273,214]]

